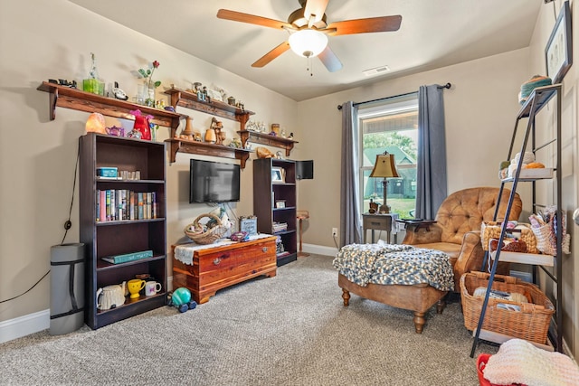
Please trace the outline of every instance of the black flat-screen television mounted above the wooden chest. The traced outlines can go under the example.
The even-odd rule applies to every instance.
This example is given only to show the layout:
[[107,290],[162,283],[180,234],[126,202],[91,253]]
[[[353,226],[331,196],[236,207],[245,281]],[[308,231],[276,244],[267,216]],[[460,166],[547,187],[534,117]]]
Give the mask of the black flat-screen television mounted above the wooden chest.
[[239,201],[239,165],[192,159],[189,182],[190,203]]

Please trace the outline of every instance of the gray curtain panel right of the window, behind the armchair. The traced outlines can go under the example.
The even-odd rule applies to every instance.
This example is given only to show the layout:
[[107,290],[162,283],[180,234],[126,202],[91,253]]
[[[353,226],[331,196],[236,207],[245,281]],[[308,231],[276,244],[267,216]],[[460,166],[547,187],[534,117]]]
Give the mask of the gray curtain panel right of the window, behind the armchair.
[[421,219],[434,219],[446,188],[446,137],[444,134],[443,88],[421,86],[418,90],[418,165],[416,167],[416,212]]

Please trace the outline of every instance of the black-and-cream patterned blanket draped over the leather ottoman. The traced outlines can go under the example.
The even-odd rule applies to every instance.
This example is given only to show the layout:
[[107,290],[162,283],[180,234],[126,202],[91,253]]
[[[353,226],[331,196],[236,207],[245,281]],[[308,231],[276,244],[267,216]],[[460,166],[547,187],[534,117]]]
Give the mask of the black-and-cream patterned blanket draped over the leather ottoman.
[[427,283],[441,291],[454,289],[449,256],[433,249],[387,244],[382,240],[377,244],[350,244],[337,252],[333,265],[348,280],[362,287],[368,283]]

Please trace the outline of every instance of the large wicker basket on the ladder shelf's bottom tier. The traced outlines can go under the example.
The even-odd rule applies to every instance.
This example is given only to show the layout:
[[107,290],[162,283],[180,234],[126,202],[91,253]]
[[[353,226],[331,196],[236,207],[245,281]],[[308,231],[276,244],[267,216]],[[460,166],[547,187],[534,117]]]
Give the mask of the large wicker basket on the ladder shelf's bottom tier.
[[[489,277],[490,275],[486,272],[469,272],[460,277],[460,301],[464,326],[470,331],[476,330],[479,325],[480,311],[484,301],[484,298],[474,297],[472,294],[477,287],[488,287]],[[531,299],[531,303],[516,303],[489,297],[482,328],[537,344],[546,344],[549,323],[555,313],[555,307],[546,295],[532,284],[519,278],[503,275],[495,275],[492,288],[522,293]],[[498,303],[520,306],[521,311],[498,308]]]

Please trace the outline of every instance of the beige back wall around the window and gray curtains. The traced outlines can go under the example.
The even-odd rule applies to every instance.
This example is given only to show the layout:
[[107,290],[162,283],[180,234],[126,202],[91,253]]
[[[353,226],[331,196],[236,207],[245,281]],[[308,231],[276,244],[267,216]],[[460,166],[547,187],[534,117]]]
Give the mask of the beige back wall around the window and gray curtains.
[[338,104],[451,82],[451,89],[444,90],[448,191],[498,186],[498,163],[508,155],[520,108],[517,92],[529,78],[527,61],[528,50],[522,49],[300,102],[300,127],[307,140],[300,150],[315,160],[315,179],[299,183],[299,206],[310,214],[304,242],[333,247],[331,228],[339,226],[342,116]]

